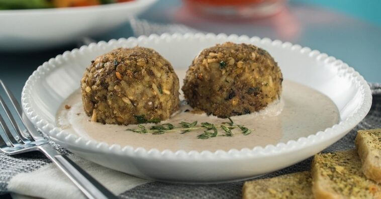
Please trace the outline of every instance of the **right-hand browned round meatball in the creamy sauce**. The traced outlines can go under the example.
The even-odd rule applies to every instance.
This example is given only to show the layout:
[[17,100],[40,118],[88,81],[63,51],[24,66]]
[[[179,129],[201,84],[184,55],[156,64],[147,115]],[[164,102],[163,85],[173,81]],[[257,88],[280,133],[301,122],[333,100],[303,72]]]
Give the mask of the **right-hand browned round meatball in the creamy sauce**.
[[280,98],[282,73],[267,51],[227,42],[204,49],[189,66],[188,104],[220,118],[250,114]]

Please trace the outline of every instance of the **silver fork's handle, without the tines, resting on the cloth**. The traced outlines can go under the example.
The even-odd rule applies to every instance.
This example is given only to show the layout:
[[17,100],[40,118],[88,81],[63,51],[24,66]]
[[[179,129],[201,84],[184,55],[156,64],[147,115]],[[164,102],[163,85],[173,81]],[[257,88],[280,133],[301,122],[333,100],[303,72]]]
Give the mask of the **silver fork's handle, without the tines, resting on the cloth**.
[[67,156],[59,153],[52,146],[44,144],[39,148],[40,151],[54,162],[88,198],[118,198],[81,167],[75,164]]

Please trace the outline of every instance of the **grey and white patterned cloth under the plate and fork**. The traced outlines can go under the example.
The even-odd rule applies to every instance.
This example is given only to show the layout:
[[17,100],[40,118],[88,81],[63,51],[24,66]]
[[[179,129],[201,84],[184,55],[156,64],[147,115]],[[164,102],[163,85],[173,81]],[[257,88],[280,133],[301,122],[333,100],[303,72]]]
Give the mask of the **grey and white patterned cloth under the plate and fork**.
[[[195,32],[182,25],[159,25],[132,20],[136,36],[151,33]],[[354,148],[354,138],[359,129],[381,127],[381,85],[370,84],[373,104],[369,114],[344,138],[324,150],[325,152]],[[120,198],[241,198],[243,181],[226,184],[187,185],[154,182],[84,160],[55,143],[51,144],[84,168]],[[311,158],[261,178],[309,170]],[[7,156],[0,152],[0,197],[11,193],[14,198],[85,198],[74,184],[39,152]]]

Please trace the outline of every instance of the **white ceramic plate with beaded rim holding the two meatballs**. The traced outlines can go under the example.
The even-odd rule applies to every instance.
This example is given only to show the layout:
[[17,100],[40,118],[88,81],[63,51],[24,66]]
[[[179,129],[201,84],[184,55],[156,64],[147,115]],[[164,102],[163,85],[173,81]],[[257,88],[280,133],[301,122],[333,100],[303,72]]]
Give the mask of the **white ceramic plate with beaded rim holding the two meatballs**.
[[[117,47],[139,45],[154,48],[174,68],[187,67],[202,49],[225,41],[250,43],[267,50],[278,62],[285,79],[308,85],[329,96],[340,111],[340,123],[287,143],[216,152],[119,146],[68,134],[56,127],[58,107],[79,87],[83,71],[94,57]],[[102,41],[50,59],[26,82],[22,105],[32,122],[52,140],[88,160],[142,178],[205,183],[250,178],[318,153],[342,138],[365,117],[371,105],[371,92],[363,77],[347,64],[289,42],[225,34],[163,34]]]

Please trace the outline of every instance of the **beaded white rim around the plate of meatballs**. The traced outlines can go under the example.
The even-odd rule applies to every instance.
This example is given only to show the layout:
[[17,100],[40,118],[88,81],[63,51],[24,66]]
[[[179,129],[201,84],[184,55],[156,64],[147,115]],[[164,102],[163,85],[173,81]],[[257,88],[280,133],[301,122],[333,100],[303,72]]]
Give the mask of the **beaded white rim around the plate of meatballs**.
[[[352,116],[348,117],[345,121],[341,121],[339,124],[336,124],[332,127],[329,127],[325,129],[324,131],[319,131],[315,134],[311,134],[308,137],[300,137],[298,140],[289,140],[286,143],[279,142],[276,145],[266,145],[265,147],[254,147],[252,149],[248,148],[242,148],[242,149],[230,149],[229,151],[224,150],[217,150],[215,152],[211,152],[209,150],[204,151],[188,151],[185,152],[184,150],[177,150],[177,151],[170,151],[170,150],[162,150],[159,151],[157,149],[150,149],[146,150],[142,147],[133,148],[129,145],[127,146],[120,146],[117,144],[107,144],[104,142],[98,142],[95,140],[90,140],[84,137],[78,137],[73,134],[65,135],[67,132],[62,131],[61,129],[55,127],[54,124],[48,123],[46,120],[41,118],[40,116],[36,115],[35,110],[33,107],[30,106],[30,96],[29,93],[31,91],[31,86],[38,78],[38,73],[44,72],[45,70],[49,70],[49,67],[55,67],[51,66],[49,63],[56,61],[60,57],[68,56],[69,54],[73,54],[80,51],[89,50],[90,48],[100,48],[102,45],[110,45],[112,43],[123,43],[123,42],[135,42],[139,40],[149,40],[149,39],[166,39],[166,38],[176,38],[176,37],[183,37],[183,38],[208,38],[208,37],[216,37],[216,38],[224,38],[224,39],[249,39],[250,41],[258,41],[261,43],[276,43],[276,45],[281,45],[282,48],[290,48],[290,50],[299,50],[301,54],[304,54],[308,52],[308,56],[315,57],[316,59],[319,59],[320,61],[324,62],[338,62],[340,63],[338,66],[335,67],[342,67],[344,73],[348,73],[352,75],[352,78],[355,79],[358,83],[360,83],[360,87],[363,89],[363,102],[359,108],[357,108],[356,112],[353,113]],[[350,130],[353,128],[356,124],[358,124],[368,113],[371,106],[371,91],[370,87],[367,84],[367,82],[363,79],[363,77],[358,74],[352,67],[348,67],[346,63],[342,62],[341,60],[337,60],[334,57],[328,56],[325,53],[320,53],[317,50],[311,50],[308,47],[302,47],[300,45],[294,45],[290,42],[281,42],[280,40],[271,40],[269,38],[262,38],[259,37],[248,37],[246,35],[226,35],[226,34],[213,34],[213,33],[186,33],[184,35],[181,34],[167,34],[164,33],[162,35],[156,35],[152,34],[150,36],[140,36],[140,37],[129,37],[129,38],[120,38],[118,40],[112,39],[108,42],[100,41],[98,43],[92,43],[88,46],[82,46],[79,49],[75,48],[71,51],[65,51],[61,55],[57,55],[55,58],[49,59],[49,61],[44,62],[42,65],[40,65],[36,71],[33,72],[33,74],[28,78],[28,80],[25,83],[25,86],[22,91],[22,107],[27,115],[27,117],[43,132],[47,132],[47,134],[54,138],[57,141],[60,141],[62,143],[70,144],[79,148],[83,148],[86,150],[90,150],[93,152],[104,152],[104,153],[115,153],[119,155],[129,155],[129,156],[135,156],[135,157],[149,157],[149,156],[161,156],[161,158],[176,158],[177,156],[181,156],[184,158],[190,158],[190,159],[198,159],[202,158],[204,156],[208,156],[208,158],[245,158],[250,156],[251,158],[254,157],[261,157],[261,156],[267,156],[268,154],[276,154],[276,153],[285,153],[290,152],[293,150],[299,150],[298,148],[303,148],[303,146],[307,143],[311,142],[322,142],[325,139],[328,139],[330,136],[324,136],[328,133],[335,133],[340,134],[343,131]],[[360,113],[359,113],[360,112]],[[344,128],[345,127],[345,128]],[[342,129],[342,131],[339,131],[339,128]],[[58,135],[61,134],[61,135]],[[62,135],[63,134],[63,135]],[[334,135],[331,135],[334,136]],[[85,142],[85,146],[81,146],[78,143],[79,142]]]

